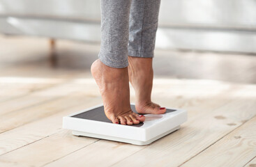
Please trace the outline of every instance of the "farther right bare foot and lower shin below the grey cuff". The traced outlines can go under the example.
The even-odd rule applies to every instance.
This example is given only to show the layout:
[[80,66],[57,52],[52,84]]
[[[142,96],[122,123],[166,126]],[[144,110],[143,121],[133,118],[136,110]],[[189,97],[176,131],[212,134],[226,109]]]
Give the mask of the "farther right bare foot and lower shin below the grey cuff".
[[135,89],[135,108],[138,113],[165,113],[165,107],[151,102],[153,86],[152,58],[128,56],[128,74],[130,84]]

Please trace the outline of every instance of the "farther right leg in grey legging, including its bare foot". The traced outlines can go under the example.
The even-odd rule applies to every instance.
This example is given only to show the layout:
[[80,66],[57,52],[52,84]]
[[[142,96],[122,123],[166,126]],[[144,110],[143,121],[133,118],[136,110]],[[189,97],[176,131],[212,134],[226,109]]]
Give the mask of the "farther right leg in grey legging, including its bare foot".
[[135,88],[136,110],[139,113],[165,113],[165,107],[151,102],[153,86],[153,51],[160,0],[134,0],[131,3],[128,72]]

